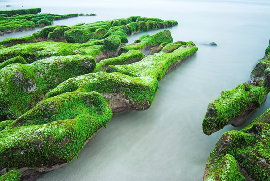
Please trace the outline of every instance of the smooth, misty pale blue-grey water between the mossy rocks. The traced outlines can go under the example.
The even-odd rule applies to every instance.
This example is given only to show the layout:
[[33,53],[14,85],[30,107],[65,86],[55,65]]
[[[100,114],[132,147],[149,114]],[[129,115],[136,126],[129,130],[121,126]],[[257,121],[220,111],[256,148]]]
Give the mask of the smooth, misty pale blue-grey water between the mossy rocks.
[[[226,126],[211,136],[202,134],[208,103],[223,89],[248,81],[252,68],[265,54],[270,38],[268,1],[63,2],[0,1],[0,9],[24,6],[41,7],[42,13],[97,14],[54,22],[68,26],[132,15],[177,20],[179,25],[170,28],[174,41],[193,41],[199,50],[160,81],[159,93],[149,110],[114,116],[107,128],[82,149],[78,159],[39,181],[202,180],[207,157],[221,134],[242,129],[269,108],[270,98],[245,125]],[[129,36],[129,42],[143,34]],[[203,45],[212,41],[218,46]]]

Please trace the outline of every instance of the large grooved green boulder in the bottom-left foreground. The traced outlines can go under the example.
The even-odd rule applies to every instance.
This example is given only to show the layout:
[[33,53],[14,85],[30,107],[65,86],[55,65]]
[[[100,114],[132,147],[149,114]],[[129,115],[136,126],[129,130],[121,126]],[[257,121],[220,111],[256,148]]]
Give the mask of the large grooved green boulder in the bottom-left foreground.
[[110,121],[112,112],[97,92],[68,92],[39,102],[0,131],[0,174],[19,169],[35,180],[78,156]]

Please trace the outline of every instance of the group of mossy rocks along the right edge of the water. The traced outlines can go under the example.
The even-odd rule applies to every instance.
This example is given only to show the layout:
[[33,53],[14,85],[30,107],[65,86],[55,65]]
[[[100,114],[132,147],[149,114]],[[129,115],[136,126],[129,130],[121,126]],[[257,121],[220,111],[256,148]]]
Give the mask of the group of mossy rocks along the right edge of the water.
[[[254,113],[270,91],[270,45],[266,56],[240,84],[210,103],[203,120],[207,135],[227,124],[239,126]],[[224,133],[208,157],[204,180],[270,179],[270,109],[240,131]]]

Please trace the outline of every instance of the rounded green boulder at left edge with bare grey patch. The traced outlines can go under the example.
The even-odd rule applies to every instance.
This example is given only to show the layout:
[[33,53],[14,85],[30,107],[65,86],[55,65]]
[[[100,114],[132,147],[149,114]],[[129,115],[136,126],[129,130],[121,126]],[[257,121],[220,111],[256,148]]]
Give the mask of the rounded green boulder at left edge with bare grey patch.
[[[4,62],[5,63],[5,62]],[[57,56],[0,70],[0,121],[16,119],[59,83],[96,71],[92,56]]]

